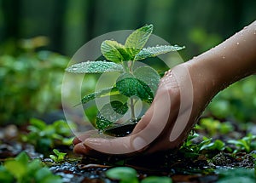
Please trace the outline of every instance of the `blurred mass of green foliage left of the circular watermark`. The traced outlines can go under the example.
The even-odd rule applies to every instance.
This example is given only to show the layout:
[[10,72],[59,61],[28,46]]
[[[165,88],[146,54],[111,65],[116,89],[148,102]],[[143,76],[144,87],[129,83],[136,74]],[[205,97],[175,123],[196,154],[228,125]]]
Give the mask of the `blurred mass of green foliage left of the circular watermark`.
[[57,108],[61,103],[61,82],[67,63],[67,57],[60,54],[33,52],[33,49],[17,56],[1,55],[1,124],[26,123],[30,117]]

